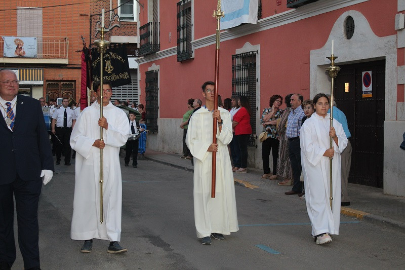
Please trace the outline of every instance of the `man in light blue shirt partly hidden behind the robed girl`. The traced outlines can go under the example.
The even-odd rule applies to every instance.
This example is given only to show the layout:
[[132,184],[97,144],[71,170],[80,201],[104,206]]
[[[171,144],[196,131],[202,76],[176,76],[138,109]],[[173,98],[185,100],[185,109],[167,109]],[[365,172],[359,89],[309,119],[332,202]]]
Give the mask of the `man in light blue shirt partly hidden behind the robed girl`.
[[[327,95],[331,98],[331,95]],[[329,109],[328,113],[331,113],[331,109]],[[337,120],[340,124],[342,124],[343,131],[347,137],[347,146],[340,154],[340,161],[341,161],[341,183],[342,183],[342,197],[341,197],[341,206],[349,206],[350,205],[350,197],[349,192],[347,190],[347,182],[349,180],[349,172],[350,172],[350,165],[351,165],[351,144],[349,138],[351,137],[349,128],[347,126],[347,119],[346,115],[336,107],[335,100],[333,101],[333,118]]]

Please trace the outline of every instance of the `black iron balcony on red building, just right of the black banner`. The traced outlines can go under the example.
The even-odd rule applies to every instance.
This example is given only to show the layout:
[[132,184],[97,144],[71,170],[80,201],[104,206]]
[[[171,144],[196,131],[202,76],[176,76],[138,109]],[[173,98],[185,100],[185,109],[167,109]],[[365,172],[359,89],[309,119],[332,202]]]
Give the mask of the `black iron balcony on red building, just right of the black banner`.
[[148,22],[139,27],[139,56],[160,51],[159,22]]

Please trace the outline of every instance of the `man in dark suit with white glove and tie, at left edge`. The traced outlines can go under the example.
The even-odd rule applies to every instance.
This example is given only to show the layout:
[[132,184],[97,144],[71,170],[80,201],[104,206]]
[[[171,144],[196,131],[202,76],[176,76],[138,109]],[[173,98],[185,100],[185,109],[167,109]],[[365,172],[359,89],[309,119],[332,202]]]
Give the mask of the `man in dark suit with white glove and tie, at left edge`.
[[0,70],[0,269],[16,258],[14,201],[18,243],[24,268],[39,269],[38,201],[42,178],[48,183],[54,165],[44,115],[38,100],[18,95],[16,74]]

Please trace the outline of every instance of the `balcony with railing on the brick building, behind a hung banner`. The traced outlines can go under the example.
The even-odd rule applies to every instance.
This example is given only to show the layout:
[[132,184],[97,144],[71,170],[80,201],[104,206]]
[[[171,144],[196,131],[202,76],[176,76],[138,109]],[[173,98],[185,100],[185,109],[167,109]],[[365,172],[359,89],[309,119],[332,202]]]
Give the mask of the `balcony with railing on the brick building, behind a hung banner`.
[[25,64],[68,64],[69,40],[64,36],[37,36],[36,58],[5,57],[4,40],[0,38],[0,61]]

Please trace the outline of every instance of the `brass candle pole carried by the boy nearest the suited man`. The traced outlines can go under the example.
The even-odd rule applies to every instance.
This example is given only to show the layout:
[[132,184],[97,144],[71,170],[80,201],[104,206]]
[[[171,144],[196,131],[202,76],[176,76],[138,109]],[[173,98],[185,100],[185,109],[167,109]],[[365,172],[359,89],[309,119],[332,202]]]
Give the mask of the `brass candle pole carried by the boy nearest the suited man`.
[[[103,57],[109,44],[104,40],[104,27],[101,27],[101,39],[94,41],[100,53],[100,118],[103,118]],[[103,127],[100,127],[100,140],[103,140]],[[100,223],[103,223],[103,149],[100,149]]]

